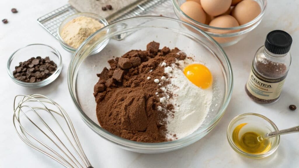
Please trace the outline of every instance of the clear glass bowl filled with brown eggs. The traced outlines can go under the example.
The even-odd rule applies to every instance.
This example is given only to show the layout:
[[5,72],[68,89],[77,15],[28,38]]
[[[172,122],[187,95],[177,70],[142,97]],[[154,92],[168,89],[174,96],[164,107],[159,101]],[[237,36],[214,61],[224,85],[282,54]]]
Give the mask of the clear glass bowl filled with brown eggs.
[[222,47],[234,45],[263,19],[267,0],[173,0],[176,16],[208,33]]

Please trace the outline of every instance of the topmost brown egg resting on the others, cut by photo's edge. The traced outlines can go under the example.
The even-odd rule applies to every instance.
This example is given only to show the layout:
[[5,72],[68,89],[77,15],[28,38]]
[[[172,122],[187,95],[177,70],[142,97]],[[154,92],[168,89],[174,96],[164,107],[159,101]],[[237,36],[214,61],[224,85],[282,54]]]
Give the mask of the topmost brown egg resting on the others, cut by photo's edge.
[[232,0],[201,0],[202,8],[210,16],[218,16],[225,13],[231,6]]

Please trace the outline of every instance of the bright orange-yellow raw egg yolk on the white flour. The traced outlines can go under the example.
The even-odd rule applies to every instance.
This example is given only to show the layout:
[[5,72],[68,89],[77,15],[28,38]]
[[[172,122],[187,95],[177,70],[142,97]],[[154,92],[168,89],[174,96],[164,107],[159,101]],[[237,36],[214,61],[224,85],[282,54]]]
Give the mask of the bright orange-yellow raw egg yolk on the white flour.
[[184,69],[184,74],[190,82],[200,88],[206,89],[212,85],[212,74],[205,65],[190,64]]

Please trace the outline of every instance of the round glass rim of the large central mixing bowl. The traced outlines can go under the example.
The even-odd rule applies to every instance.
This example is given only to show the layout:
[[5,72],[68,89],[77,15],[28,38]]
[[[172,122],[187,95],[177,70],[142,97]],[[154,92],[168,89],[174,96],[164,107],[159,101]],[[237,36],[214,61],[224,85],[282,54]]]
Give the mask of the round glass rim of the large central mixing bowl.
[[[135,19],[166,19],[166,20],[171,20],[174,22],[178,22],[181,24],[185,24],[188,25],[192,28],[194,28],[195,30],[199,31],[202,35],[205,36],[205,38],[208,38],[209,40],[211,40],[213,42],[214,45],[217,46],[217,48],[221,51],[224,59],[225,59],[225,63],[228,67],[228,72],[227,72],[227,76],[229,77],[229,80],[227,80],[227,92],[225,93],[225,97],[224,97],[224,102],[222,107],[219,109],[218,114],[216,115],[216,117],[210,121],[209,124],[207,124],[205,127],[203,127],[202,129],[200,129],[201,131],[196,131],[196,133],[188,135],[187,137],[181,138],[179,140],[173,140],[173,141],[167,141],[167,142],[160,142],[160,143],[145,143],[145,142],[136,142],[136,141],[132,141],[132,140],[127,140],[124,138],[121,138],[117,135],[113,135],[112,133],[106,131],[105,129],[101,128],[99,125],[97,125],[96,123],[94,123],[84,112],[83,110],[80,108],[80,105],[77,103],[76,100],[76,96],[73,93],[73,85],[72,85],[72,80],[71,80],[71,69],[73,69],[72,65],[75,62],[75,59],[77,57],[82,56],[82,54],[78,54],[81,52],[81,50],[83,50],[83,46],[85,46],[86,44],[88,44],[88,42],[92,39],[93,36],[95,36],[98,32],[104,30],[104,29],[110,29],[111,27],[113,27],[114,25],[119,25],[122,24],[124,22],[127,21],[131,21],[131,20],[135,20]],[[110,32],[111,33],[111,32]],[[106,34],[107,35],[107,34]],[[105,36],[106,36],[105,35]],[[103,37],[103,36],[102,36]],[[99,39],[98,39],[99,40]],[[79,56],[78,56],[79,55]],[[76,66],[76,65],[74,65]],[[75,67],[76,69],[76,67]],[[186,142],[190,142],[193,139],[195,139],[197,136],[202,135],[203,133],[205,133],[206,131],[210,131],[210,129],[213,129],[214,126],[216,126],[216,124],[218,123],[218,121],[221,119],[221,117],[223,116],[225,109],[228,106],[228,103],[231,100],[231,94],[233,91],[233,72],[232,72],[232,68],[231,68],[231,63],[228,59],[228,56],[226,55],[225,51],[223,50],[223,48],[219,45],[218,42],[216,42],[211,36],[209,36],[207,33],[205,33],[204,31],[202,31],[201,29],[187,23],[184,21],[181,21],[179,19],[174,19],[174,18],[170,18],[170,17],[164,17],[164,16],[137,16],[137,17],[132,17],[132,18],[127,18],[127,19],[123,19],[123,20],[119,20],[117,22],[114,22],[112,24],[109,24],[107,26],[105,26],[104,28],[97,30],[94,34],[92,34],[91,36],[89,36],[89,38],[87,38],[81,45],[80,47],[76,50],[76,52],[74,53],[73,58],[70,61],[69,64],[69,68],[68,68],[68,89],[69,92],[71,94],[72,100],[75,104],[75,106],[77,107],[83,121],[94,131],[96,132],[98,135],[100,135],[102,138],[109,140],[113,143],[116,143],[120,146],[124,146],[124,147],[133,147],[133,148],[138,148],[138,149],[169,149],[172,147],[177,147],[177,146],[181,146],[182,144],[185,144]],[[112,140],[112,139],[113,140]]]

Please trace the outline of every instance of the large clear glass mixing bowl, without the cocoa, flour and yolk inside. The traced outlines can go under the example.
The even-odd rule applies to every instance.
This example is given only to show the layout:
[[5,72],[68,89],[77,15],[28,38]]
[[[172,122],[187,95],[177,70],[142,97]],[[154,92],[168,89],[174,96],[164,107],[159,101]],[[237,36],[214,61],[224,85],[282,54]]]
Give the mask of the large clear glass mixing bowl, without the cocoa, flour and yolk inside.
[[[102,32],[109,32],[103,35]],[[97,34],[102,34],[101,37]],[[163,143],[141,143],[123,139],[101,128],[93,96],[97,73],[109,67],[108,60],[132,49],[146,50],[159,42],[160,48],[179,48],[195,61],[204,62],[213,74],[213,100],[205,121],[187,137]],[[91,55],[94,48],[103,48]],[[219,122],[231,98],[233,76],[231,65],[221,46],[205,32],[178,19],[141,16],[124,19],[98,30],[77,49],[68,69],[68,88],[85,123],[101,137],[118,146],[140,153],[161,153],[183,148],[208,134]],[[199,99],[199,97],[190,97]]]

